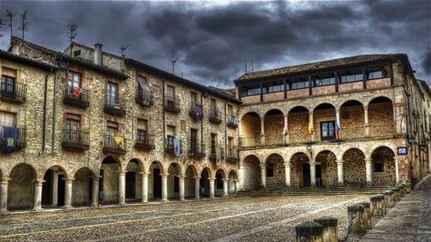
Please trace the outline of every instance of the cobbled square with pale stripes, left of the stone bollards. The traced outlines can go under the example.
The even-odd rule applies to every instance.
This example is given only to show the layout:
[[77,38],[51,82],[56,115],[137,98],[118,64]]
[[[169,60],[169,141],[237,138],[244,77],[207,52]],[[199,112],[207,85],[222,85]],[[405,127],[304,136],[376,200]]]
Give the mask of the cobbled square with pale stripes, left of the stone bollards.
[[295,225],[339,218],[369,195],[238,197],[0,216],[0,241],[293,241]]

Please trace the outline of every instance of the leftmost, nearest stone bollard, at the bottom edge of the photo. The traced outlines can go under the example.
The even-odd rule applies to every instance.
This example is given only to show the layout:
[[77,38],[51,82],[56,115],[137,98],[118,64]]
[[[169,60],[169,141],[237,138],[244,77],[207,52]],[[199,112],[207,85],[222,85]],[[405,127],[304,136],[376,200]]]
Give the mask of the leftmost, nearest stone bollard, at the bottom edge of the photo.
[[323,242],[323,225],[305,221],[295,226],[296,242]]

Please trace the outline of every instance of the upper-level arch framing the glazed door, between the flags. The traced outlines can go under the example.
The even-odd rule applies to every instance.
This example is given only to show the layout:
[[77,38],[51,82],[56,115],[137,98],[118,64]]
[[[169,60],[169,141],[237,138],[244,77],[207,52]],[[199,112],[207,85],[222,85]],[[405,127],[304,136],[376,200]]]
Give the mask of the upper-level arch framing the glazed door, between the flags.
[[329,103],[318,105],[313,112],[314,133],[317,140],[336,139],[335,107]]

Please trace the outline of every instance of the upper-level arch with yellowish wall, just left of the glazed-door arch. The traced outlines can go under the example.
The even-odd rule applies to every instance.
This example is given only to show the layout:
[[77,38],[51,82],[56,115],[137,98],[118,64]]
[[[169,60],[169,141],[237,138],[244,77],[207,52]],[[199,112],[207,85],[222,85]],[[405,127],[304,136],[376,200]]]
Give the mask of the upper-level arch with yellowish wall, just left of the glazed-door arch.
[[287,115],[288,143],[295,144],[309,141],[309,110],[302,106],[293,107]]

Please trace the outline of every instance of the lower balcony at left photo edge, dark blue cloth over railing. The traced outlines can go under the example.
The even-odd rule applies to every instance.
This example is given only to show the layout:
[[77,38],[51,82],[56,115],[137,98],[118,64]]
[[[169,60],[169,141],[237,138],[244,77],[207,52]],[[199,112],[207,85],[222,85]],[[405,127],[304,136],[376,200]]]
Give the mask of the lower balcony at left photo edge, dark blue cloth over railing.
[[0,150],[13,153],[26,147],[26,129],[0,126]]

